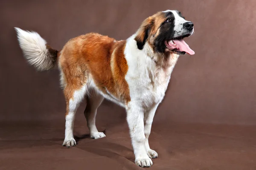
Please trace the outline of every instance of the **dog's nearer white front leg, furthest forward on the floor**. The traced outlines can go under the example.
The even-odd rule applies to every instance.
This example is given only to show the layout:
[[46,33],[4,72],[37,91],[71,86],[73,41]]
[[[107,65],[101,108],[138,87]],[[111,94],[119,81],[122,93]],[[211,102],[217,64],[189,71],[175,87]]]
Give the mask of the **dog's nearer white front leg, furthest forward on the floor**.
[[135,164],[141,167],[150,167],[153,162],[148,157],[145,148],[143,108],[136,105],[136,103],[130,103],[127,107],[127,122],[130,129],[131,144],[134,149]]

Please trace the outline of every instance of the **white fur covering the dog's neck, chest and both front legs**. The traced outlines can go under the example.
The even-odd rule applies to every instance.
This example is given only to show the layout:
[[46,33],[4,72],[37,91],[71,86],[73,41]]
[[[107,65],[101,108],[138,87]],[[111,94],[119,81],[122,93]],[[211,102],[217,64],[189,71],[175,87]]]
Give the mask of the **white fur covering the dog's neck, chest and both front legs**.
[[151,124],[157,106],[165,95],[178,55],[173,54],[169,63],[166,63],[169,67],[163,68],[156,64],[155,60],[159,56],[152,52],[151,47],[146,43],[143,50],[139,50],[134,37],[135,35],[128,38],[125,47],[125,59],[129,68],[125,79],[131,96],[131,102],[126,107],[127,122],[134,148],[135,163],[148,167],[152,165],[149,157],[158,156],[148,144]]

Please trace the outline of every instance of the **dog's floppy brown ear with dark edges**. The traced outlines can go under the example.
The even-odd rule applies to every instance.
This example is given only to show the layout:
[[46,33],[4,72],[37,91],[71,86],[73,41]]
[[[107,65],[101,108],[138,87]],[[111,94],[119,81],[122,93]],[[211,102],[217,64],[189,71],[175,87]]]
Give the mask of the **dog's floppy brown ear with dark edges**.
[[143,21],[140,28],[137,31],[137,35],[134,40],[137,42],[138,49],[142,50],[145,45],[148,36],[150,35],[151,28],[154,26],[154,19],[152,17],[148,17]]

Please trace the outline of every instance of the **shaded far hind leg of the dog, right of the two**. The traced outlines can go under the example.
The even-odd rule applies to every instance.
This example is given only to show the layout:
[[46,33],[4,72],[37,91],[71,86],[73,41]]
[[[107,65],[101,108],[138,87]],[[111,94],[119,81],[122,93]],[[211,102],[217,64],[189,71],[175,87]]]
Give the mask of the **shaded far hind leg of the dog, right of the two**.
[[105,137],[103,132],[99,132],[95,125],[97,108],[101,105],[104,97],[92,90],[89,95],[87,95],[87,106],[84,110],[84,116],[87,120],[87,127],[90,130],[90,137],[93,139],[99,139]]

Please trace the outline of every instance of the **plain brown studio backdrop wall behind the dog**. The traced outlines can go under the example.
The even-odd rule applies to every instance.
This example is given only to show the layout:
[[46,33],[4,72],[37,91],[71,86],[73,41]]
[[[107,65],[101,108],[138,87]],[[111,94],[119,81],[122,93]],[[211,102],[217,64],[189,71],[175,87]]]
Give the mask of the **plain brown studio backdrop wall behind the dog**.
[[[126,39],[146,17],[166,9],[178,9],[194,23],[195,34],[186,42],[195,55],[186,54],[177,62],[154,125],[256,125],[255,0],[1,0],[0,121],[60,120],[60,144],[63,138],[65,102],[58,71],[36,72],[27,65],[13,27],[37,31],[60,50],[70,38],[92,31]],[[85,122],[83,109],[84,104],[78,110],[78,122]],[[114,124],[126,127],[125,111],[111,102],[105,101],[98,113],[101,130]],[[7,133],[6,129],[0,132],[7,137],[17,130]],[[163,135],[163,129],[155,130]]]

